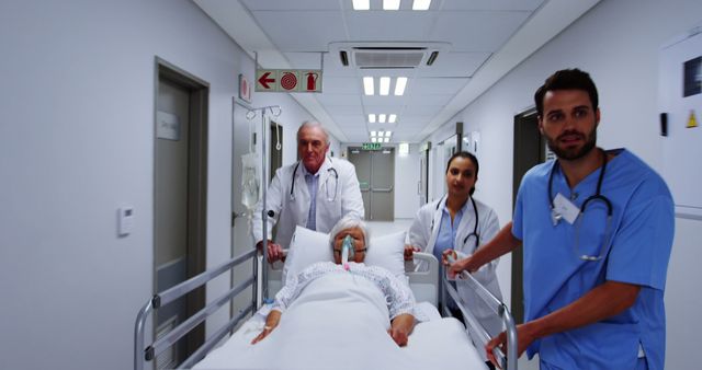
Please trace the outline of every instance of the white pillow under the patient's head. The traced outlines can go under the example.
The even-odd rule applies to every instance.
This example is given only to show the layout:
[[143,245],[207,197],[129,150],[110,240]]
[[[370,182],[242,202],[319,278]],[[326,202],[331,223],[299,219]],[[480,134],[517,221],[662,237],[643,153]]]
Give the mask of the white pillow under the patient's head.
[[[365,264],[381,266],[397,277],[405,275],[405,232],[396,232],[389,235],[373,236],[369,243],[365,255]],[[324,261],[333,261],[329,234],[297,227],[290,243],[285,266],[283,267],[283,281],[287,276],[299,274],[307,266]]]

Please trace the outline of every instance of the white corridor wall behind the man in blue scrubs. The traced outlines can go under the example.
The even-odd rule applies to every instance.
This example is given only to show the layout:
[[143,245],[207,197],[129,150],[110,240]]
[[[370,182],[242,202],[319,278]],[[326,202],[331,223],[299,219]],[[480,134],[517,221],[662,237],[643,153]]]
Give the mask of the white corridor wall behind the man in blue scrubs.
[[[482,197],[496,209],[502,224],[512,211],[513,116],[533,106],[535,89],[555,70],[578,67],[591,73],[600,92],[601,147],[626,147],[660,171],[659,48],[700,21],[699,0],[603,0],[446,124],[462,120],[465,131],[480,131],[480,183],[489,185]],[[701,280],[701,273],[691,262],[702,259],[693,240],[700,221],[678,220],[677,227],[666,291],[666,368],[697,368],[699,361],[692,354],[702,324],[691,307],[699,308],[694,284]],[[509,297],[507,259],[498,274]]]

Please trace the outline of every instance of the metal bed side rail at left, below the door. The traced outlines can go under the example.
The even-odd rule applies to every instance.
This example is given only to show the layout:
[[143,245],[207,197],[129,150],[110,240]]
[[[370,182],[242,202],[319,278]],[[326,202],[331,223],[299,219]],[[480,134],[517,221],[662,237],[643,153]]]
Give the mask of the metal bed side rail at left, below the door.
[[[251,277],[237,286],[229,289],[229,291],[219,296],[214,301],[207,303],[202,310],[190,316],[188,320],[176,326],[168,334],[161,338],[156,339],[151,345],[145,347],[145,325],[148,316],[159,308],[188,294],[196,288],[200,288],[207,281],[218,277],[225,271],[230,270],[241,263],[252,259],[253,271]],[[145,361],[151,361],[163,350],[168,349],[171,345],[176,344],[180,338],[188,334],[191,329],[200,325],[210,315],[215,313],[219,308],[229,302],[231,298],[244,291],[248,287],[252,287],[251,304],[246,307],[238,315],[233,317],[225,326],[215,332],[208,337],[205,343],[196,349],[188,359],[185,359],[178,368],[190,368],[195,362],[200,361],[227,333],[241,321],[246,315],[253,312],[257,309],[257,279],[258,279],[258,258],[257,251],[252,248],[241,255],[229,259],[208,269],[197,276],[194,276],[172,288],[169,288],[162,292],[154,294],[154,297],[139,310],[136,322],[134,325],[134,369],[143,370]]]

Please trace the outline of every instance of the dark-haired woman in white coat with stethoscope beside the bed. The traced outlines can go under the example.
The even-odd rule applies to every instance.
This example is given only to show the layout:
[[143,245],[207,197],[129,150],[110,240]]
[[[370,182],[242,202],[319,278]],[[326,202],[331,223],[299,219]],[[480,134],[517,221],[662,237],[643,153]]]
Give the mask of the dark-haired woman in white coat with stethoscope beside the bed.
[[[457,152],[449,159],[449,192],[439,200],[427,204],[417,211],[407,233],[405,259],[411,259],[414,252],[427,252],[441,261],[442,255],[451,250],[456,252],[458,258],[463,258],[497,234],[499,222],[495,211],[472,197],[478,180],[478,167],[477,158],[465,151]],[[501,300],[496,268],[497,259],[484,265],[473,276]],[[458,281],[456,288],[466,308],[488,333],[499,334],[502,331],[499,317],[485,307],[467,286]],[[452,303],[450,302],[449,308],[455,310],[457,307]]]

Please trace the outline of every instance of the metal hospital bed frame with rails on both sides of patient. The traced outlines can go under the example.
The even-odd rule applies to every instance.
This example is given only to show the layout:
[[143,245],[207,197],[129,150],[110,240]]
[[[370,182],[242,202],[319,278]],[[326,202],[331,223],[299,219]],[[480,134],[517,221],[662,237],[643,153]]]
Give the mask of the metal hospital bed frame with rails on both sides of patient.
[[[205,343],[197,348],[188,359],[178,366],[177,369],[189,369],[200,360],[202,360],[207,352],[210,352],[222,339],[233,333],[237,324],[249,314],[254,313],[261,305],[261,297],[258,294],[257,280],[259,276],[259,268],[263,270],[263,275],[267,275],[271,279],[280,279],[282,269],[272,268],[268,274],[268,264],[261,263],[265,261],[257,256],[256,250],[250,250],[230,261],[208,269],[189,280],[185,280],[170,289],[155,294],[144,307],[139,310],[135,328],[134,328],[134,369],[143,370],[145,362],[152,361],[156,356],[167,350],[170,346],[178,343],[180,338],[186,335],[191,329],[204,322],[210,315],[215,313],[219,308],[230,302],[234,297],[242,292],[248,287],[252,288],[251,303],[239,312],[235,317],[231,317],[223,327],[212,334]],[[239,282],[233,287],[229,291],[219,296],[212,302],[207,303],[205,308],[197,313],[182,322],[174,327],[168,334],[161,338],[154,340],[145,347],[145,326],[146,322],[156,310],[159,308],[185,296],[192,290],[205,285],[207,281],[218,277],[219,275],[230,271],[234,267],[242,263],[252,263],[252,274],[245,281]],[[415,253],[415,262],[407,263],[405,265],[407,276],[409,277],[409,284],[415,293],[417,301],[429,301],[438,308],[445,308],[448,297],[451,297],[461,309],[463,316],[468,324],[466,332],[472,331],[477,333],[477,337],[480,343],[476,345],[485,346],[490,340],[489,334],[483,328],[471,311],[465,309],[465,303],[458,297],[456,290],[449,284],[445,277],[443,266],[439,264],[437,258],[427,253]],[[438,273],[437,273],[438,271]],[[439,277],[442,277],[441,279]],[[499,349],[495,349],[495,357],[500,362],[502,369],[516,370],[517,369],[517,331],[514,327],[514,321],[507,309],[505,303],[500,302],[495,296],[492,296],[485,287],[483,287],[473,276],[467,273],[463,273],[461,279],[465,280],[478,296],[490,307],[490,309],[502,319],[502,323],[507,328],[507,356]],[[263,281],[263,286],[267,288],[268,281]],[[267,289],[264,289],[267,290]],[[267,297],[263,296],[263,299]],[[446,309],[440,309],[443,316],[451,316],[451,313]]]

